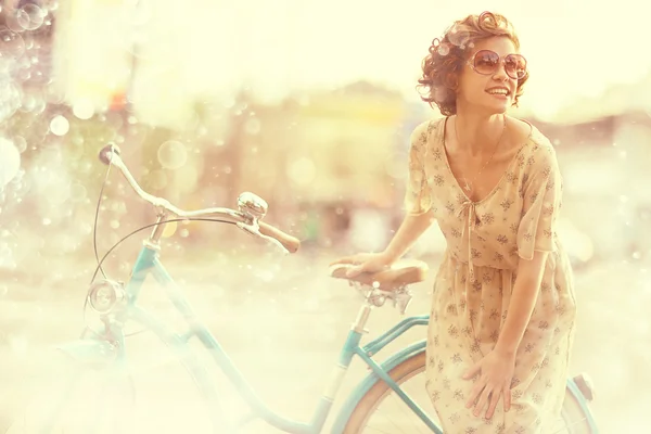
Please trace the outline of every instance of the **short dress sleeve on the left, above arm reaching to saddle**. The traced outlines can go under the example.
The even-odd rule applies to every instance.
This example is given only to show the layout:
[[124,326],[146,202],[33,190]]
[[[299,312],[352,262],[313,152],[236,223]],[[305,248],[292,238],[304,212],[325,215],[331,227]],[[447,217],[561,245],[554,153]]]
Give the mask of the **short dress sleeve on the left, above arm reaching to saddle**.
[[412,216],[425,214],[432,207],[432,192],[424,167],[429,137],[427,124],[423,123],[414,128],[409,144],[405,210]]

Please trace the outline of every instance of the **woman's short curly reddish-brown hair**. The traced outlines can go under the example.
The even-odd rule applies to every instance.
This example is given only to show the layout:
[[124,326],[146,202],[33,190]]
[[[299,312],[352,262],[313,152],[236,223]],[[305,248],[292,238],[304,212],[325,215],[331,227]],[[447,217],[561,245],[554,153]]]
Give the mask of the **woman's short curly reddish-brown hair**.
[[[468,60],[468,49],[474,43],[496,36],[503,36],[520,49],[520,40],[512,24],[502,15],[483,12],[481,15],[468,15],[455,22],[443,36],[435,38],[430,46],[429,54],[422,61],[422,77],[418,80],[417,90],[421,99],[438,106],[444,116],[457,113],[457,87],[459,74]],[[513,105],[523,93],[523,85],[528,79],[526,75],[518,80],[518,89]]]

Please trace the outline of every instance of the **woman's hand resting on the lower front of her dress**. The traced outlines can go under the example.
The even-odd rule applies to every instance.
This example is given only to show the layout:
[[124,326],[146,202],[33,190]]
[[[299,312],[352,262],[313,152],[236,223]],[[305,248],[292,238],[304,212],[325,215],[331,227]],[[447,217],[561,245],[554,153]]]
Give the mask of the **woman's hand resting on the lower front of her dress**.
[[503,397],[505,411],[511,408],[511,380],[515,369],[515,355],[492,350],[463,374],[464,380],[480,375],[476,380],[465,408],[474,406],[474,416],[478,417],[484,407],[486,419],[493,418],[500,395]]

